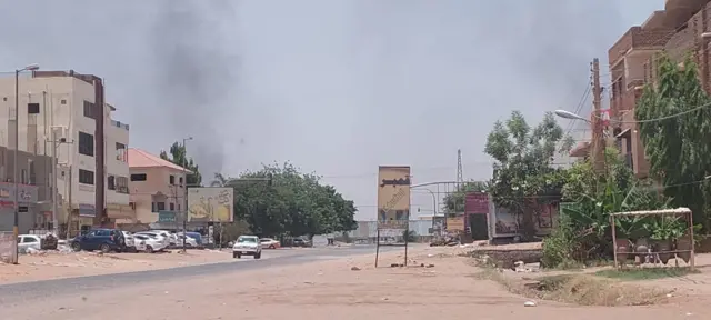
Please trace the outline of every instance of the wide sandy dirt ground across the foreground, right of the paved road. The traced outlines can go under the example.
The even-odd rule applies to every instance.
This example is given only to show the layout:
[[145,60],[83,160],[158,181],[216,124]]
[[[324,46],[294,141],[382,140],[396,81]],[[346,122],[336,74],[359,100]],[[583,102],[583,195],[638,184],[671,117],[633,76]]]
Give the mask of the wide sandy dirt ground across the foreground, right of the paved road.
[[[109,291],[61,297],[42,304],[3,308],[8,319],[103,319],[120,312],[133,319],[709,319],[709,296],[679,296],[648,307],[579,307],[535,301],[475,277],[480,270],[452,248],[412,252],[411,263],[390,268],[401,253],[343,258],[301,266],[268,267],[231,274],[176,279]],[[360,270],[351,270],[357,267]],[[4,318],[4,317],[3,317]]]

